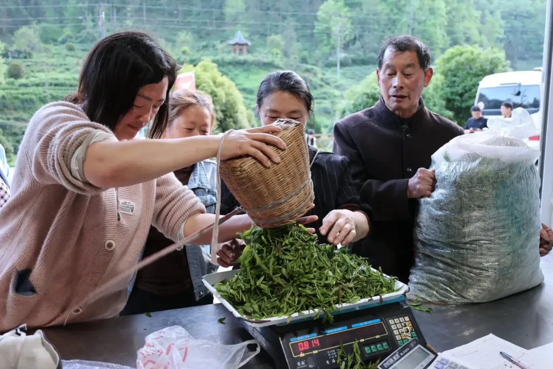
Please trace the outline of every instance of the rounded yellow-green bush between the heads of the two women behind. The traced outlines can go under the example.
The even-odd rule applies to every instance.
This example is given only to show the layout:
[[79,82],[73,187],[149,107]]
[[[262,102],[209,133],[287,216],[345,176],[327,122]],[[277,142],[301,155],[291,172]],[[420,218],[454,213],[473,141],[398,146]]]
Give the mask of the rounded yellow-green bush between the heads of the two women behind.
[[192,65],[182,67],[182,71],[191,70],[194,70],[196,77],[196,88],[207,92],[213,98],[217,132],[251,127],[251,116],[244,106],[242,93],[238,91],[234,82],[221,74],[217,64],[204,59],[195,67]]

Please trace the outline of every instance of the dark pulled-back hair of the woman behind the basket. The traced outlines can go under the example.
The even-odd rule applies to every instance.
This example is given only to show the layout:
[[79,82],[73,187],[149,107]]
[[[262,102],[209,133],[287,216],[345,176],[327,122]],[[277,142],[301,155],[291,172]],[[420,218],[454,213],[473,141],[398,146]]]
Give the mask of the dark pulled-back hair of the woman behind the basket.
[[312,113],[315,99],[311,95],[309,86],[296,72],[291,70],[275,70],[265,76],[259,85],[259,90],[257,90],[257,99],[255,101],[257,107],[260,109],[265,97],[275,91],[289,92],[301,98],[305,102],[307,113]]

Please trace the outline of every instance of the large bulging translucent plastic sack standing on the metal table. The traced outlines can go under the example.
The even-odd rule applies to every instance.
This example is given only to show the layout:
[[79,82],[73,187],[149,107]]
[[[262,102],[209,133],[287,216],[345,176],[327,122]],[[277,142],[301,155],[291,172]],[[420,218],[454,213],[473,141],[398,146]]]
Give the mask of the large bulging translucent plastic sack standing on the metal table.
[[488,302],[535,287],[540,270],[539,151],[522,108],[432,155],[436,190],[420,201],[410,300]]

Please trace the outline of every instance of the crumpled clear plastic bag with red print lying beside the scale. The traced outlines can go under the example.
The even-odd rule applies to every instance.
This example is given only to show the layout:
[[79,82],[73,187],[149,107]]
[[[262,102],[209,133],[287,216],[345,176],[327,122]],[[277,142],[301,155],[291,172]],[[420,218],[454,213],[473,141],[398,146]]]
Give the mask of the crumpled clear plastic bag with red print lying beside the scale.
[[[257,350],[247,352],[247,346],[255,344]],[[256,340],[237,345],[215,344],[196,340],[181,326],[161,329],[146,337],[146,343],[138,350],[137,369],[235,369],[243,366],[259,354]]]

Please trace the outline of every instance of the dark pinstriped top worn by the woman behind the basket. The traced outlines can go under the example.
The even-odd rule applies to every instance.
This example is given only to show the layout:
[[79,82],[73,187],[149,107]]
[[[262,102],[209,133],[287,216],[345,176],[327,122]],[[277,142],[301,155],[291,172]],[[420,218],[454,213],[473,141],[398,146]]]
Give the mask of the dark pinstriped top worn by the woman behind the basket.
[[[311,167],[311,179],[315,193],[315,208],[307,212],[307,215],[317,215],[319,220],[309,224],[317,230],[320,243],[328,243],[325,236],[319,233],[322,220],[335,209],[348,209],[352,211],[363,211],[370,219],[372,216],[371,207],[361,204],[359,194],[349,174],[347,159],[338,154],[319,152],[309,147],[310,162],[315,158]],[[221,214],[228,214],[240,206],[224,181],[221,181]]]

